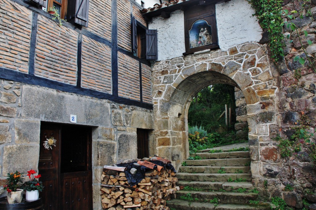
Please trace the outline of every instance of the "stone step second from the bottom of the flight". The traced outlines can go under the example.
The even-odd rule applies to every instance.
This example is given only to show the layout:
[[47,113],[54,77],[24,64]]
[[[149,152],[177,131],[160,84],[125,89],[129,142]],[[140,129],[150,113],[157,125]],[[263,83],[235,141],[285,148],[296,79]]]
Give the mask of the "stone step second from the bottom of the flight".
[[[218,203],[229,204],[247,204],[250,200],[257,200],[258,194],[256,193],[238,193],[238,192],[204,192],[204,191],[185,191],[180,190],[176,192],[177,198],[181,196],[192,198],[191,201],[208,202],[217,198]],[[197,200],[196,200],[197,199]],[[181,199],[183,200],[183,199]],[[190,200],[188,200],[190,201]]]

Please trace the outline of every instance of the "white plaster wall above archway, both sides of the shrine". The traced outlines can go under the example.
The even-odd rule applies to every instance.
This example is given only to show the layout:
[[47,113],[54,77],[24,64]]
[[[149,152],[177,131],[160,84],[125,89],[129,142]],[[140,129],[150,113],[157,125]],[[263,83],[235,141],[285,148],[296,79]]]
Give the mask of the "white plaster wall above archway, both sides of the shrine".
[[[221,50],[260,41],[262,29],[252,14],[254,10],[246,0],[216,4],[217,34]],[[148,27],[157,29],[159,61],[182,56],[185,52],[183,11],[174,11],[166,19],[154,17]]]

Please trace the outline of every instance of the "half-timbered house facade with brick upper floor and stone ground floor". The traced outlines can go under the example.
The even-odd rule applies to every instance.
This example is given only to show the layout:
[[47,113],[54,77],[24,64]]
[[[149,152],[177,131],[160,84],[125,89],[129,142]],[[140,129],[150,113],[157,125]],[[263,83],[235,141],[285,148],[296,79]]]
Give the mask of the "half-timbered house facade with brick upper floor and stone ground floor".
[[[140,52],[146,40],[155,46],[155,30],[141,9],[133,0],[1,0],[2,183],[34,169],[45,209],[100,209],[103,166],[137,150],[154,155],[155,50]],[[46,149],[50,138],[56,143]]]

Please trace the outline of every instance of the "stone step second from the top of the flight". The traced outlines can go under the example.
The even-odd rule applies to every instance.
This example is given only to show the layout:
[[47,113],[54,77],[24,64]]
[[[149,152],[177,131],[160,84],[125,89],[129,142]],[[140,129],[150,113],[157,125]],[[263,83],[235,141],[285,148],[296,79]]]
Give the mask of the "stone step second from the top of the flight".
[[185,160],[187,166],[250,166],[250,158]]

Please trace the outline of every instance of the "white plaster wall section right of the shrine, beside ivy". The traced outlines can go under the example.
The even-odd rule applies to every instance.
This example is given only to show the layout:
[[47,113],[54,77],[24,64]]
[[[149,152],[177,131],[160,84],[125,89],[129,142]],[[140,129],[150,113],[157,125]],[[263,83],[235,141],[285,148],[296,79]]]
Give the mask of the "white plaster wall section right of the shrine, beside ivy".
[[246,0],[232,0],[219,3],[216,7],[218,42],[221,50],[227,50],[246,42],[259,42],[262,29],[254,9]]

